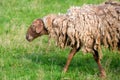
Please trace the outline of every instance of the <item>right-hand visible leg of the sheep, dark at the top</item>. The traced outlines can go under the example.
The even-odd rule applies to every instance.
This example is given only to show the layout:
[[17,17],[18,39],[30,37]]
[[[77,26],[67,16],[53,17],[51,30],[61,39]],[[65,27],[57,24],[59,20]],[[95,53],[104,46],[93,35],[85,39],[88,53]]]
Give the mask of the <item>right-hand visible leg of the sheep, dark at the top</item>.
[[103,78],[106,77],[105,70],[103,69],[103,67],[101,65],[98,51],[94,50],[93,57],[94,57],[95,61],[97,62],[98,68],[100,70],[100,77],[103,77]]

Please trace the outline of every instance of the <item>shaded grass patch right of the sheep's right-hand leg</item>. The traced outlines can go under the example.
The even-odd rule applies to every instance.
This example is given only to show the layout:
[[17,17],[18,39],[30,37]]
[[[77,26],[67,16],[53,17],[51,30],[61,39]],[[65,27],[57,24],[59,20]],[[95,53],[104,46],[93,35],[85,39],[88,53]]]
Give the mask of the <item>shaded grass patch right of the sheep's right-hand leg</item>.
[[[105,53],[102,63],[107,70],[108,74],[120,74],[120,54],[118,53]],[[120,75],[119,75],[120,77]]]

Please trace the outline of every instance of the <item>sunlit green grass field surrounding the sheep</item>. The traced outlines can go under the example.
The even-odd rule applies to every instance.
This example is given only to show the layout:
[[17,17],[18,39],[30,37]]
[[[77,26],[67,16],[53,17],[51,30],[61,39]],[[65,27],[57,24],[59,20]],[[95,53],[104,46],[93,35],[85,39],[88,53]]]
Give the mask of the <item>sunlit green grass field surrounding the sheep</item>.
[[[70,6],[104,0],[0,0],[0,80],[100,80],[91,54],[78,52],[67,73],[62,73],[69,48],[48,46],[47,36],[29,43],[28,26],[35,18],[65,13]],[[107,78],[120,80],[120,53],[103,49]]]

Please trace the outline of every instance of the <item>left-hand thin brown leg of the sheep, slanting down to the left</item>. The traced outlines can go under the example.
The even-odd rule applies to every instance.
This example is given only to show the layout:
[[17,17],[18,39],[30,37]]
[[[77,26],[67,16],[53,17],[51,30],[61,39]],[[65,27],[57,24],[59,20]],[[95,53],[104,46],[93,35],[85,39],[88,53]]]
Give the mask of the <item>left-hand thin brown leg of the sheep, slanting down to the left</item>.
[[75,48],[73,48],[73,49],[70,51],[63,72],[66,72],[66,71],[68,70],[68,67],[69,67],[69,65],[70,65],[70,62],[71,62],[73,56],[76,54],[76,52],[77,52],[78,50],[79,50],[79,49],[77,49],[77,48],[75,47]]

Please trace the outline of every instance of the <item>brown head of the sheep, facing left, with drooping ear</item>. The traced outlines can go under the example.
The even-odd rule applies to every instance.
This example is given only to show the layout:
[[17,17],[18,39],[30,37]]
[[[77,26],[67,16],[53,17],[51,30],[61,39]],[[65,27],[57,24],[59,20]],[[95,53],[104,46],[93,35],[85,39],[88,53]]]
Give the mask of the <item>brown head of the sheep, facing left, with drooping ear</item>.
[[44,27],[44,23],[42,19],[36,19],[33,21],[33,23],[30,25],[30,27],[27,30],[26,39],[28,41],[32,41],[35,38],[48,34],[48,31]]

